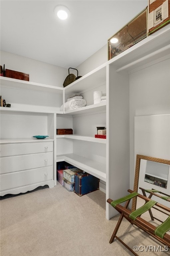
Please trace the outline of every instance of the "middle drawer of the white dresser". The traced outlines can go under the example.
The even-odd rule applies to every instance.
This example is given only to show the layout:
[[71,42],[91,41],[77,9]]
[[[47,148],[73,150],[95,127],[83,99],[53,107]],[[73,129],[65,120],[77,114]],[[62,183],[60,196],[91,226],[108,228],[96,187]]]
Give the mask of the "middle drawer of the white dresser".
[[53,152],[1,157],[1,173],[53,165]]

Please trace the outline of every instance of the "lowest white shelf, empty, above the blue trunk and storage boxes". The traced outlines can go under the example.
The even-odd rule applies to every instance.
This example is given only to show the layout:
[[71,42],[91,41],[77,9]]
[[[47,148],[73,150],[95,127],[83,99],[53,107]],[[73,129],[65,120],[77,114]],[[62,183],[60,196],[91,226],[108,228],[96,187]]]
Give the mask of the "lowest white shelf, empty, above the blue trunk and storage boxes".
[[77,168],[80,168],[81,170],[99,178],[100,180],[106,181],[105,164],[93,161],[91,159],[76,154],[58,155],[56,161],[66,161],[69,164],[72,164]]

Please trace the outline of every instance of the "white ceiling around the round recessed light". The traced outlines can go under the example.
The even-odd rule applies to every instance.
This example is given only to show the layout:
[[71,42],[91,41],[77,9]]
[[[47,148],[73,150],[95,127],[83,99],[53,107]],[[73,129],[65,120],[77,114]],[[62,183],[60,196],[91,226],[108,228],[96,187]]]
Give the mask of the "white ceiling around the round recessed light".
[[[1,50],[60,67],[77,67],[107,44],[147,0],[1,0]],[[65,5],[68,20],[54,16]],[[1,64],[2,65],[2,64]]]

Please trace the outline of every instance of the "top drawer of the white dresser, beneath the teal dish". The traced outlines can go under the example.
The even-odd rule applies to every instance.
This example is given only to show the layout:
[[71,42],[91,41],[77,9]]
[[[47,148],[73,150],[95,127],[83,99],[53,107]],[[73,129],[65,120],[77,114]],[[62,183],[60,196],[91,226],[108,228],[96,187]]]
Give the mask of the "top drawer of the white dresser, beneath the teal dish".
[[53,142],[14,143],[1,145],[1,157],[53,151]]

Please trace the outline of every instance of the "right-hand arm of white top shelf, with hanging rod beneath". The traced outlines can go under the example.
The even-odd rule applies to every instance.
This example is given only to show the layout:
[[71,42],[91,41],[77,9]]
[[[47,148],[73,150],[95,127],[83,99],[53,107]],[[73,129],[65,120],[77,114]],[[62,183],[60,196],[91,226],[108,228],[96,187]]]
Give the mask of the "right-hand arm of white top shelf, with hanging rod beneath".
[[85,74],[65,87],[64,92],[66,95],[82,93],[106,84],[106,66],[113,66],[117,72],[130,72],[162,57],[170,57],[170,24]]

